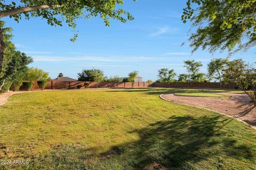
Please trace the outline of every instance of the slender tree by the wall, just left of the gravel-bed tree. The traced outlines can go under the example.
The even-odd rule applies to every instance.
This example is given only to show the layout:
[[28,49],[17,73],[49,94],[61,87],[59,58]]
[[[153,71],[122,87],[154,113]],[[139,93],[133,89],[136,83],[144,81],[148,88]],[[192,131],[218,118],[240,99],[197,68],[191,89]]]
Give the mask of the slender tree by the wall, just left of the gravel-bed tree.
[[220,88],[222,87],[222,77],[223,72],[227,68],[228,59],[227,58],[214,58],[207,65],[208,77],[210,80],[215,79],[220,82]]

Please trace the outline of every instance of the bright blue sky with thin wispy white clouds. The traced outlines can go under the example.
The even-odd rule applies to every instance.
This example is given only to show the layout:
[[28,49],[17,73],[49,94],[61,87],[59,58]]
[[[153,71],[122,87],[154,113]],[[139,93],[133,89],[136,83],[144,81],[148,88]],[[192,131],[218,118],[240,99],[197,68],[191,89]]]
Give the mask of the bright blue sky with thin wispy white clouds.
[[[180,16],[186,0],[126,0],[122,6],[135,18],[121,23],[111,20],[111,27],[99,18],[77,21],[78,39],[70,42],[73,30],[67,25],[52,27],[41,18],[21,20],[19,23],[5,18],[13,28],[13,42],[19,50],[34,58],[30,66],[49,72],[56,78],[77,78],[82,69],[99,68],[110,77],[126,77],[133,70],[139,71],[143,80],[156,80],[157,70],[167,67],[177,74],[186,73],[184,60],[206,65],[214,57],[226,57],[227,52],[210,54],[199,49],[191,55],[188,43],[190,23],[183,24]],[[185,43],[184,46],[181,46]],[[255,47],[246,53],[231,56],[254,62]]]

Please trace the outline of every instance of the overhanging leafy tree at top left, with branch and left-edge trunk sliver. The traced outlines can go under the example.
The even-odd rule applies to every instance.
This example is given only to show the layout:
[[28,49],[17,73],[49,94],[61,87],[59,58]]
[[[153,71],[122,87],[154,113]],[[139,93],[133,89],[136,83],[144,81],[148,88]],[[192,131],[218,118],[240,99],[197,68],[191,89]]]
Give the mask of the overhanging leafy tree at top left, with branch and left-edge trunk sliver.
[[[124,11],[117,5],[123,4],[123,0],[90,0],[90,1],[74,1],[74,0],[22,0],[22,1],[1,1],[0,3],[0,19],[5,16],[19,20],[30,19],[31,17],[40,17],[47,20],[50,25],[60,25],[66,22],[69,27],[76,28],[77,19],[90,19],[99,16],[107,26],[109,19],[115,19],[121,22],[133,20],[130,13]],[[71,41],[75,41],[77,33]],[[0,27],[0,73],[2,72],[4,58],[4,39],[3,27]]]

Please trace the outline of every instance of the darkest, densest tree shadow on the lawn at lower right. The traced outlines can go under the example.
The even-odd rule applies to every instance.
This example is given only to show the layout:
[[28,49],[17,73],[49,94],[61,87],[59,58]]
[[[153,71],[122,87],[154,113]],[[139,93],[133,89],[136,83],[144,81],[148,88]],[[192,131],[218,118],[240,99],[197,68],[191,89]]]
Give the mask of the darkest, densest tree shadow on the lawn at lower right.
[[221,131],[223,126],[234,119],[219,120],[219,117],[203,116],[198,119],[173,116],[167,121],[151,124],[148,128],[132,131],[140,135],[140,140],[118,147],[136,147],[127,155],[136,160],[133,167],[139,169],[154,163],[167,169],[194,169],[197,162],[219,155],[218,150],[214,149],[217,145],[223,146],[222,152],[227,155],[252,158],[251,150],[245,143],[236,146],[235,140],[231,143],[228,138],[221,137],[225,134]]

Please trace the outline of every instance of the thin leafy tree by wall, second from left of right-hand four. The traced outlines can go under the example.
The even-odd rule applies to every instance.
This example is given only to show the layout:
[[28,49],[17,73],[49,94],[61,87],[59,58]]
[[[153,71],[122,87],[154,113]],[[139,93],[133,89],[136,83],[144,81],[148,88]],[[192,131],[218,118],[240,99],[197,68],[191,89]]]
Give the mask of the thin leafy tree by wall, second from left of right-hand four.
[[194,82],[204,82],[206,81],[205,74],[199,73],[200,67],[203,66],[201,62],[196,62],[195,60],[184,61],[185,68],[187,69],[189,75],[190,86]]

